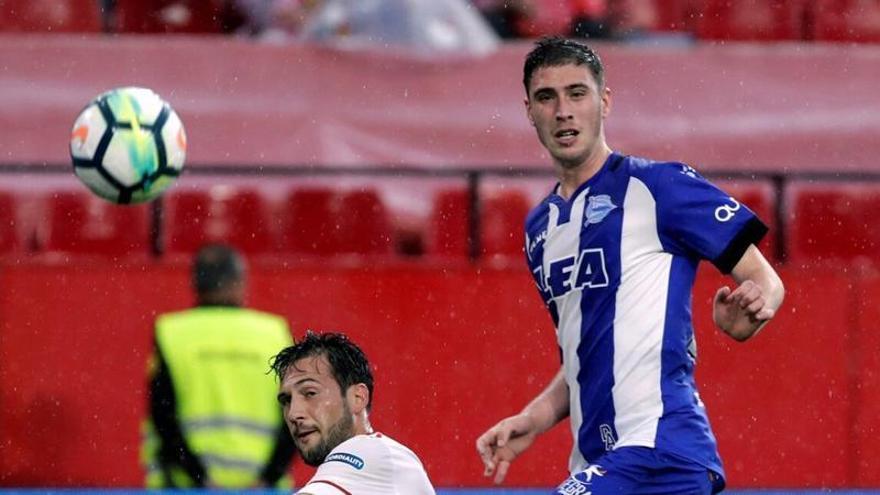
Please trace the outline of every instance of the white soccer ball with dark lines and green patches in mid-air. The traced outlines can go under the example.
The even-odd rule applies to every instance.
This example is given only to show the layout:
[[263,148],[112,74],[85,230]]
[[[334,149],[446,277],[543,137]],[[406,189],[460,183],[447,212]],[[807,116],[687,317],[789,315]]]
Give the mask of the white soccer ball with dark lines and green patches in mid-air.
[[116,88],[89,102],[73,123],[77,177],[114,203],[143,203],[183,169],[186,133],[177,113],[147,88]]

